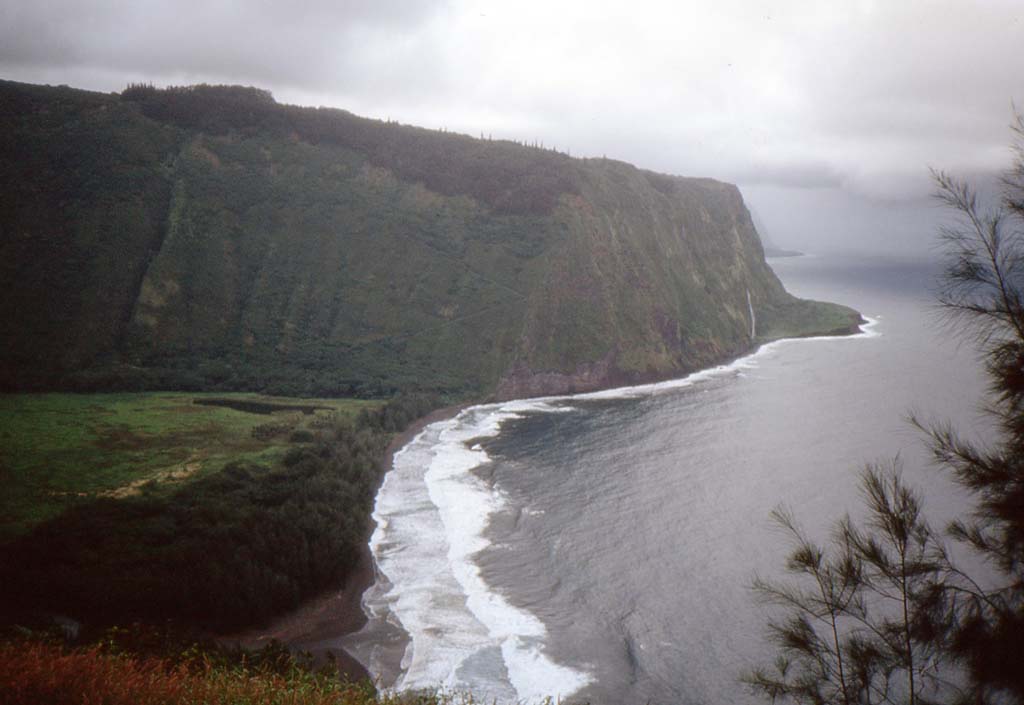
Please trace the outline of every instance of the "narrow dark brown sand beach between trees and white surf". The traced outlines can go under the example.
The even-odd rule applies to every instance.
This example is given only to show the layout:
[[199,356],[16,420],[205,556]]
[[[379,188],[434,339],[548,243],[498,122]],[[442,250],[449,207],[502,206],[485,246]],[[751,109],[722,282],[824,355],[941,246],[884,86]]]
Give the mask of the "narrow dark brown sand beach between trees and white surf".
[[[427,425],[454,417],[471,405],[460,405],[437,409],[414,421],[406,430],[388,444],[382,459],[385,472],[394,463],[394,454],[412,441]],[[384,473],[381,474],[381,482]],[[314,645],[350,634],[362,628],[367,616],[362,612],[362,593],[373,585],[375,565],[370,552],[370,536],[375,526],[371,522],[369,533],[362,544],[358,563],[343,585],[328,590],[301,606],[294,612],[283,615],[261,629],[250,629],[221,638],[226,644],[237,644],[247,649],[259,649],[271,640],[289,647],[310,652],[318,664],[328,662],[328,650]],[[351,680],[369,678],[367,669],[340,649],[330,650],[342,675]]]

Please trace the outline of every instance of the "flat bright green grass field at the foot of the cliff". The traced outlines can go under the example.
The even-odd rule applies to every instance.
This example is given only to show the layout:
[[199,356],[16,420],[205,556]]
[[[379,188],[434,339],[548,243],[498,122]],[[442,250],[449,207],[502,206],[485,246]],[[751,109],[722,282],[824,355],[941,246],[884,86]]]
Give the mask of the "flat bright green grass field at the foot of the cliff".
[[0,542],[77,501],[162,492],[232,460],[270,463],[303,430],[379,405],[249,393],[0,396]]

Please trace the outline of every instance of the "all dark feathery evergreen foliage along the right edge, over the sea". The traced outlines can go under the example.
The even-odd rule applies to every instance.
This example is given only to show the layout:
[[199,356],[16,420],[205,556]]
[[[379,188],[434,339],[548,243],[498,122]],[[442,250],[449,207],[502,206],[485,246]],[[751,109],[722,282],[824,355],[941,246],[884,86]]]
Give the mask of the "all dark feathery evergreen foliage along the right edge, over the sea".
[[786,563],[796,584],[757,580],[784,608],[769,625],[774,667],[743,679],[797,703],[1024,703],[1024,119],[998,204],[985,209],[966,182],[935,173],[956,213],[943,230],[948,265],[939,302],[951,328],[980,345],[998,436],[988,446],[949,424],[914,420],[936,464],[974,497],[946,535],[995,571],[994,583],[949,557],[895,469],[869,468],[864,526],[844,520],[829,546],[792,515]]

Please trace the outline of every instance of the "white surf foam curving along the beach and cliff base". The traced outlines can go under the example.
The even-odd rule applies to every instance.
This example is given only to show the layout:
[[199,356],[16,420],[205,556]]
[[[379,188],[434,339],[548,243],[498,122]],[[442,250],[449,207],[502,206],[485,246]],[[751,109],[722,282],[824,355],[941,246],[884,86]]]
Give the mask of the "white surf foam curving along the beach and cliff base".
[[472,472],[489,460],[478,440],[497,436],[505,421],[523,413],[565,413],[572,411],[572,400],[645,397],[738,375],[781,345],[872,338],[881,335],[878,324],[868,318],[851,336],[776,340],[681,379],[475,406],[427,426],[395,454],[373,514],[377,528],[370,546],[380,578],[364,605],[371,617],[410,636],[393,688],[472,689],[481,701],[539,702],[565,698],[593,681],[586,664],[548,658],[544,623],[492,590],[474,563],[489,545],[484,531],[490,517],[508,504],[500,490]]

